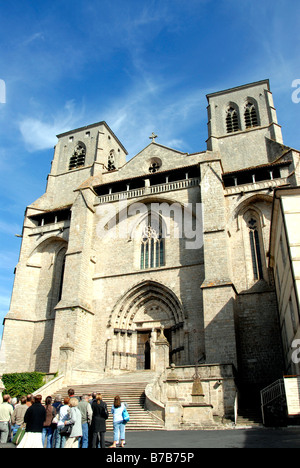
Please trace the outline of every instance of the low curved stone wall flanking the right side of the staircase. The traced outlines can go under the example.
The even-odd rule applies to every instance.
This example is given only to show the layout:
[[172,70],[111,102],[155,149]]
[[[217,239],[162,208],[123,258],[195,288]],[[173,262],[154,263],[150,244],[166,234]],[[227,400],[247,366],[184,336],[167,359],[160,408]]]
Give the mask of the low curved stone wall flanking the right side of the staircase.
[[[194,366],[172,366],[146,389],[146,407],[165,420],[170,430],[193,424],[213,426],[234,421],[236,404],[235,370],[231,364],[199,365],[197,372],[203,387],[203,420],[188,423],[186,408],[193,406]],[[194,405],[194,412],[199,406]],[[207,416],[207,411],[211,417]],[[200,413],[199,413],[200,414]]]

